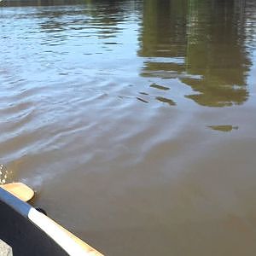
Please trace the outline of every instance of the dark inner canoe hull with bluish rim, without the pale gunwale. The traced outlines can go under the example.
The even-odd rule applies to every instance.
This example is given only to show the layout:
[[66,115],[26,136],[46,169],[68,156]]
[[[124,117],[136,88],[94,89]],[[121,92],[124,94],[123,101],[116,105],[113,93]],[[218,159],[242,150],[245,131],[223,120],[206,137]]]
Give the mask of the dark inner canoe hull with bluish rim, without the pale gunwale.
[[68,255],[28,218],[32,207],[0,188],[0,239],[14,255]]

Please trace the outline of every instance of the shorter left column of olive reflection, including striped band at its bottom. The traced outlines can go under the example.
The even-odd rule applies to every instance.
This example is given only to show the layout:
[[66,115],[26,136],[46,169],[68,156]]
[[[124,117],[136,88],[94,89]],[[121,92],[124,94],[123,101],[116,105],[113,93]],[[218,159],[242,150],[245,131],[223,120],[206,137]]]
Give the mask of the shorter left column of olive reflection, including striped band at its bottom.
[[142,76],[173,79],[183,72],[186,6],[186,0],[143,2],[143,32],[138,55],[148,60],[144,61]]

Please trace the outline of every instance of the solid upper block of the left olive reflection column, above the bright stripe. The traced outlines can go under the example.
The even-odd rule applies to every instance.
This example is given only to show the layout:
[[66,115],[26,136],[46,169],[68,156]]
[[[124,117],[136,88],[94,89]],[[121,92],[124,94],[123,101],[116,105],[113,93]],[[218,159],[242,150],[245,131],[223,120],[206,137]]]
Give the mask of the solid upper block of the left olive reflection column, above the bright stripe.
[[143,34],[138,54],[183,56],[186,40],[186,2],[147,0],[143,5]]

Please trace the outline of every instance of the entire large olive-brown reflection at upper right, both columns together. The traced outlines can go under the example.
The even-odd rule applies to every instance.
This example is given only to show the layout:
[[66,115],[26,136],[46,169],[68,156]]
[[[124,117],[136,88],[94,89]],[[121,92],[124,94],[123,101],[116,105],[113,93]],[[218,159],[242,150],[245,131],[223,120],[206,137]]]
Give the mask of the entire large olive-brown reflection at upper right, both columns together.
[[[247,1],[247,4],[250,1]],[[144,1],[141,75],[180,79],[203,106],[247,101],[246,1]]]

